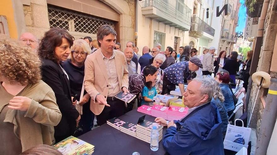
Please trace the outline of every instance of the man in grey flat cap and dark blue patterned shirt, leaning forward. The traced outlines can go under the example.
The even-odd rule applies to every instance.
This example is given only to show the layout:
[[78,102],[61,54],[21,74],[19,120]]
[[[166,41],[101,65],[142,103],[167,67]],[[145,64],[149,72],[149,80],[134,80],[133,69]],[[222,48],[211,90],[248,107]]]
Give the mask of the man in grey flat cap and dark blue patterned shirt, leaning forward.
[[191,72],[203,68],[201,60],[198,58],[191,58],[189,61],[181,61],[168,66],[163,70],[163,84],[161,94],[168,94],[170,91],[175,90],[175,85],[178,84],[181,94],[184,93],[184,78],[188,83],[191,81]]

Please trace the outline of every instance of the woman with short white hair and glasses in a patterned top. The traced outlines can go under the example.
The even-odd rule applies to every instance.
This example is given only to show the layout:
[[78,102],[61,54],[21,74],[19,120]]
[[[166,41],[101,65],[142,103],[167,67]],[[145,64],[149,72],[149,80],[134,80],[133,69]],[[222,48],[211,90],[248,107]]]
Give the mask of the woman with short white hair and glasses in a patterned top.
[[[161,94],[162,80],[163,80],[163,70],[160,68],[160,66],[165,62],[165,60],[166,60],[166,56],[164,54],[157,54],[153,60],[153,64],[151,64],[152,66],[158,69],[156,85],[155,85],[158,94]],[[141,70],[141,74],[143,74],[144,68]]]

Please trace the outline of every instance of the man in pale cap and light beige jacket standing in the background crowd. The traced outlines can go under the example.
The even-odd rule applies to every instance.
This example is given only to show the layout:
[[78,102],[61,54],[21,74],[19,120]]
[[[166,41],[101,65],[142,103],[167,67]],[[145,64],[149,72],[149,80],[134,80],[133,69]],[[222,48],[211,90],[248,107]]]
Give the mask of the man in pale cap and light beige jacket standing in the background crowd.
[[212,75],[212,72],[214,72],[214,67],[213,67],[214,58],[212,54],[214,54],[215,50],[217,50],[215,47],[210,47],[210,51],[203,56],[203,60],[202,60],[203,75]]

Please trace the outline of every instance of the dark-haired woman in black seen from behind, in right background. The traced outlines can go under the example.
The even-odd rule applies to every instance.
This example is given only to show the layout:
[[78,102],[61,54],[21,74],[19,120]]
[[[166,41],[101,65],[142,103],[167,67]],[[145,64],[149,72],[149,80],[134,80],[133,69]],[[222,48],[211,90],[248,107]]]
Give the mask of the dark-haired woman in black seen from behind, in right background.
[[[223,69],[229,72],[230,78],[233,81],[236,81],[236,73],[237,71],[239,71],[239,68],[240,68],[240,63],[238,62],[237,57],[238,57],[238,52],[236,51],[231,52],[230,59],[227,59],[223,66]],[[233,86],[232,88],[236,88],[236,87]]]

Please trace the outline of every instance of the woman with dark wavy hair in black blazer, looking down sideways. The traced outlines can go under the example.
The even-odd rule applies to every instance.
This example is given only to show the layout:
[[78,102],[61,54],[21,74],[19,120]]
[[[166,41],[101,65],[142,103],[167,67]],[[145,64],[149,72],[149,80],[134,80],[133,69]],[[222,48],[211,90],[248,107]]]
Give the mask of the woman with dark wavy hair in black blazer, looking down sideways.
[[69,77],[61,64],[70,54],[72,44],[72,37],[66,30],[51,28],[44,34],[38,49],[43,62],[42,80],[53,89],[62,113],[60,123],[54,127],[56,142],[73,135],[81,118],[73,105],[76,101],[73,102],[71,96]]

